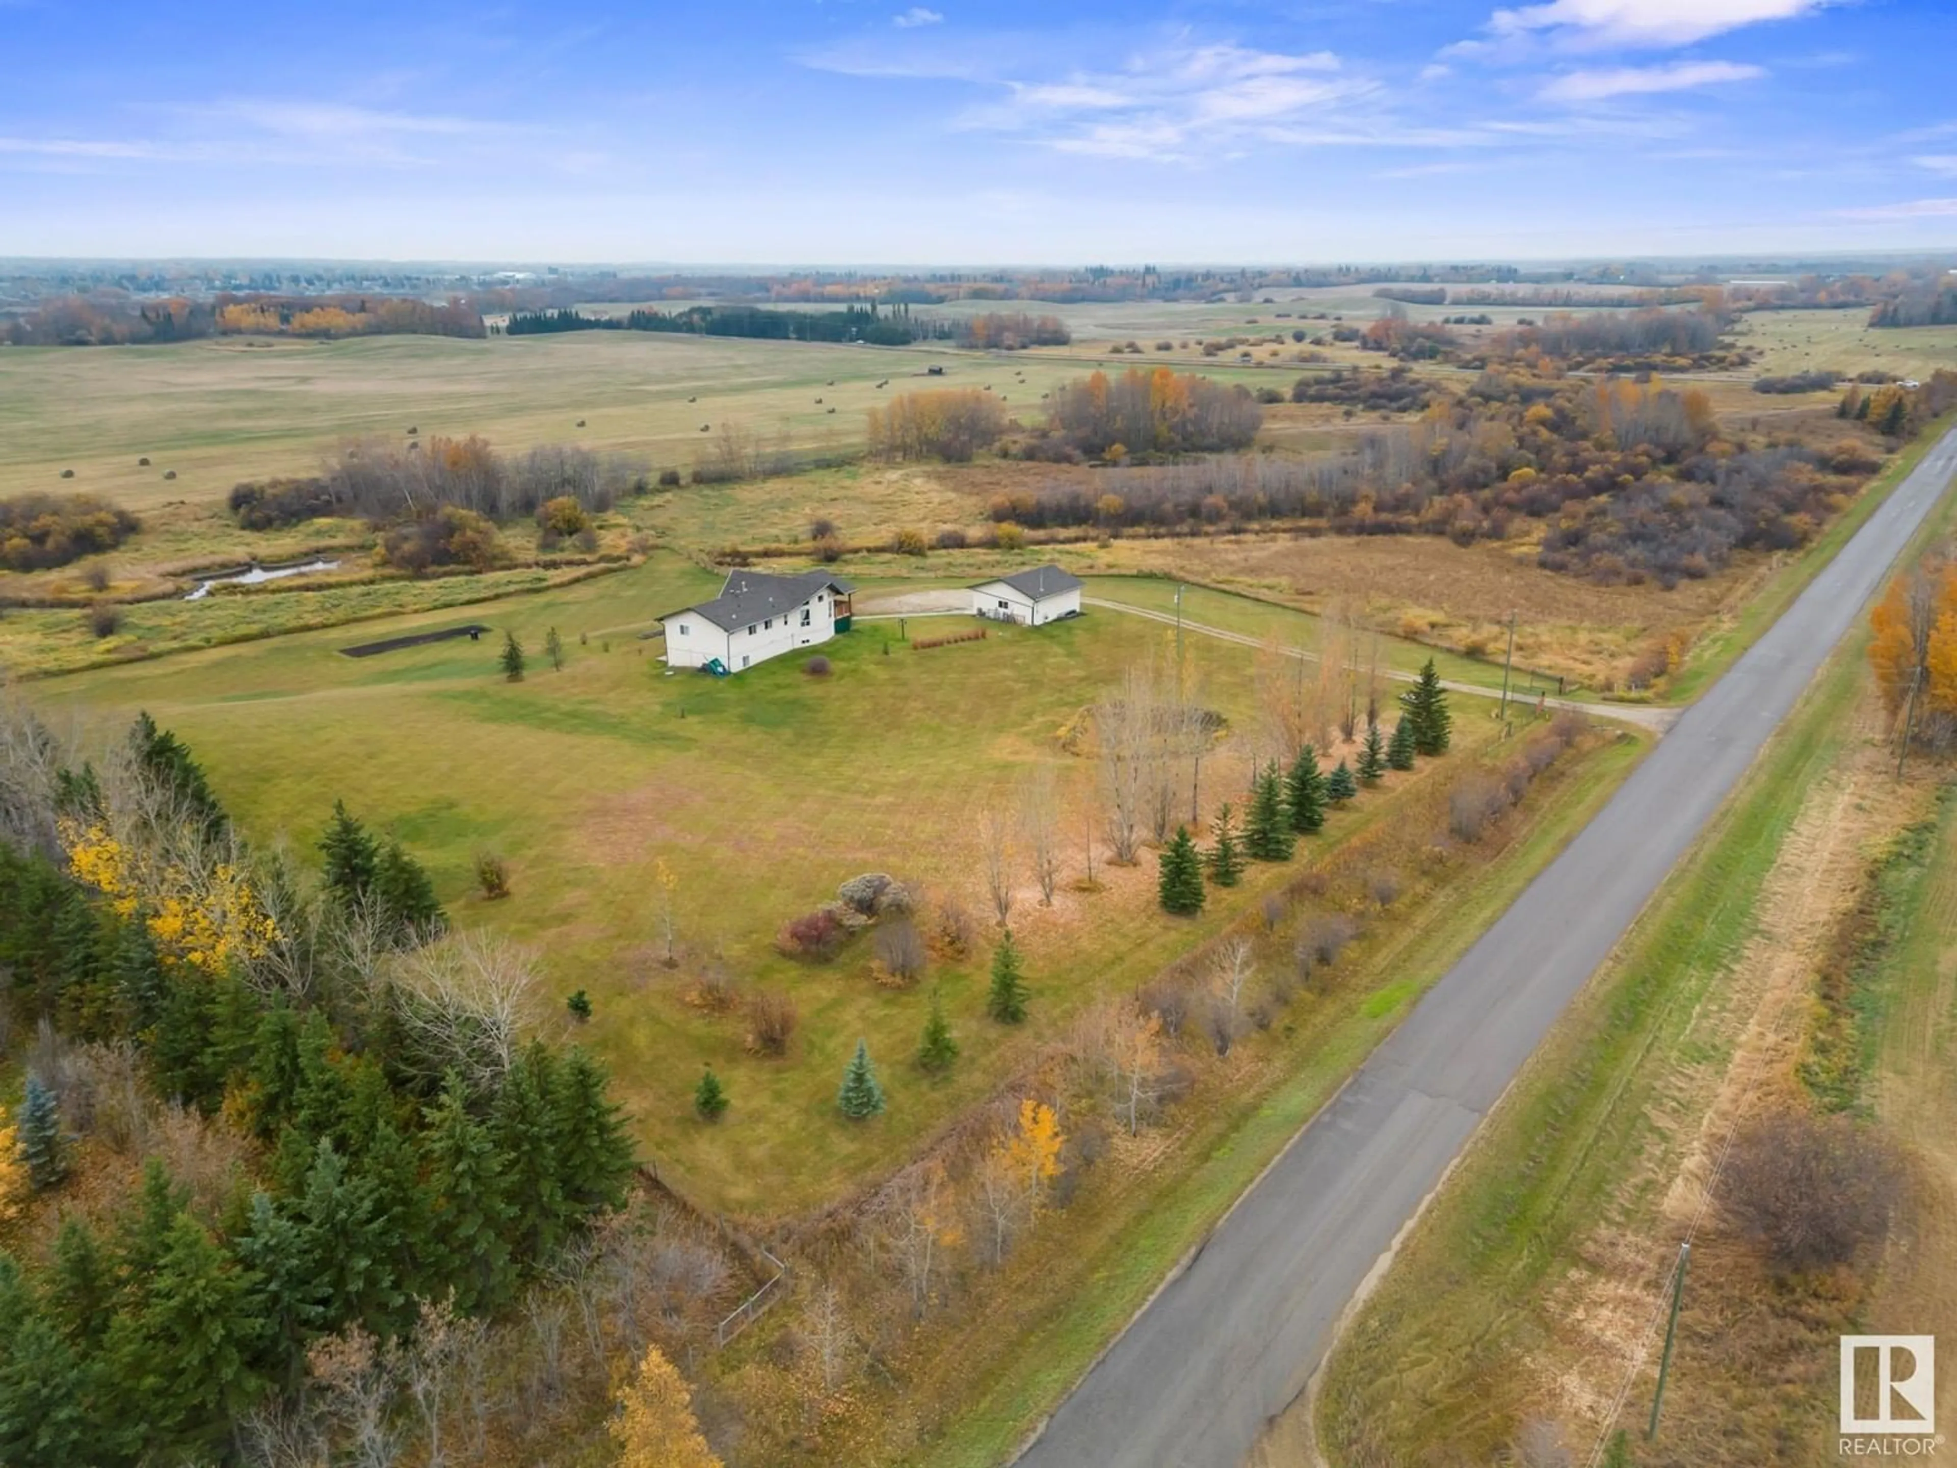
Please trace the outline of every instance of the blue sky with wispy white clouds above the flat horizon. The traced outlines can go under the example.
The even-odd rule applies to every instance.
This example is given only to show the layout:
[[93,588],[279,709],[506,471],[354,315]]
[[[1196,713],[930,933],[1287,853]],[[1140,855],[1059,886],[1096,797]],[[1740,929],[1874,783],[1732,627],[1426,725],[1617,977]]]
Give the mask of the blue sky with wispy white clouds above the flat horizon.
[[1953,0],[0,0],[0,256],[1957,247]]

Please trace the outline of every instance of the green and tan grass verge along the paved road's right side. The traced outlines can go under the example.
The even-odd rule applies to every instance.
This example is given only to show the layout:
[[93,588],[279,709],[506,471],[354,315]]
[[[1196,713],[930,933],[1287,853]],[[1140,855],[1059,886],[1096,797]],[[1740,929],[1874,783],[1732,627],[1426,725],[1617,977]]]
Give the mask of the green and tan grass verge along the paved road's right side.
[[[1789,1047],[1808,1026],[1830,910],[1851,908],[1869,871],[1855,840],[1887,840],[1924,799],[1922,787],[1894,789],[1871,744],[1863,648],[1851,636],[1834,654],[1397,1251],[1325,1370],[1317,1435],[1329,1462],[1487,1462],[1556,1427],[1583,1462],[1601,1433],[1644,1421],[1667,1268],[1707,1217],[1708,1147],[1755,1090],[1793,1084]],[[1824,785],[1834,804],[1814,803]],[[1849,844],[1822,867],[1804,842],[1822,832],[1840,848],[1836,822],[1853,826]],[[1761,963],[1779,971],[1761,977]],[[1765,998],[1734,1012],[1734,990],[1753,983],[1787,994],[1771,1020]],[[1632,1460],[1808,1460],[1832,1425],[1822,1347],[1853,1329],[1861,1286],[1842,1276],[1791,1298],[1738,1241],[1707,1233],[1675,1372],[1685,1380],[1667,1398],[1673,1431]],[[1714,1429],[1724,1448],[1710,1446]]]

